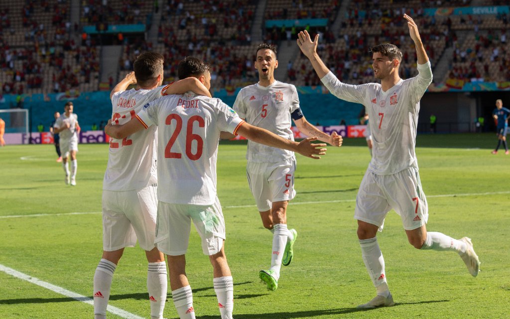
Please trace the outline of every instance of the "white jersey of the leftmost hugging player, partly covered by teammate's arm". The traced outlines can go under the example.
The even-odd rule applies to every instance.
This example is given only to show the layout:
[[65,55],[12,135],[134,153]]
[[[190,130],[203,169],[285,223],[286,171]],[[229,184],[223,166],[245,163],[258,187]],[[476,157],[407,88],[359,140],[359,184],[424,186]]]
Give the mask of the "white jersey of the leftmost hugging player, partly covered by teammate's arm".
[[[112,95],[112,123],[126,124],[145,104],[161,97],[167,87],[116,92]],[[124,139],[110,137],[103,189],[135,190],[157,183],[156,131],[154,126]]]

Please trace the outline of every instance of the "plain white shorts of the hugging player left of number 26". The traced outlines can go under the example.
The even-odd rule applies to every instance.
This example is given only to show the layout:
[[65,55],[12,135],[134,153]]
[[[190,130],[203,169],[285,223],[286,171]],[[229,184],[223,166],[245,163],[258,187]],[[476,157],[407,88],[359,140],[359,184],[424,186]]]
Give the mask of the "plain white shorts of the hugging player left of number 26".
[[145,251],[156,246],[158,199],[156,185],[141,190],[103,190],[103,250],[134,247]]

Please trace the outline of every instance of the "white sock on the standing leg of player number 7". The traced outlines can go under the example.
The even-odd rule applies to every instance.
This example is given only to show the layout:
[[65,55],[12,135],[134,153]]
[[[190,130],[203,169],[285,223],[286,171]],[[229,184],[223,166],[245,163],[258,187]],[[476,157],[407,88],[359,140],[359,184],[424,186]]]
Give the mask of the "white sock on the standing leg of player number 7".
[[386,274],[384,270],[384,258],[377,242],[377,237],[369,239],[359,239],[361,246],[361,254],[363,262],[367,268],[368,275],[372,280],[377,295],[388,297],[390,288],[386,281]]

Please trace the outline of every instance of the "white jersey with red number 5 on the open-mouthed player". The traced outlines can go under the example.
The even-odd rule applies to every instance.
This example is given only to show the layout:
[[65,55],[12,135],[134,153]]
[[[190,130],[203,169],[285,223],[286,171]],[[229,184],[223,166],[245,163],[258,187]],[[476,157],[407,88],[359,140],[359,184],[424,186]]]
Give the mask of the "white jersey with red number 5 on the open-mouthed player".
[[[257,84],[244,87],[237,94],[234,110],[246,122],[266,129],[283,138],[294,140],[291,113],[299,108],[296,87],[279,81],[264,87]],[[251,162],[280,162],[294,152],[248,141],[246,159]]]

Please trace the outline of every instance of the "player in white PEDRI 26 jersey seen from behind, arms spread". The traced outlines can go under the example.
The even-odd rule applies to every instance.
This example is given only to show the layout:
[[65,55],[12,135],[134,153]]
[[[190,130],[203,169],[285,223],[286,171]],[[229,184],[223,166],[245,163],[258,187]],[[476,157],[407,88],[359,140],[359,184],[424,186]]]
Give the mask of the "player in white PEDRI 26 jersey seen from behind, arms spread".
[[[179,78],[197,77],[211,86],[210,66],[187,57],[177,67]],[[164,96],[148,103],[125,125],[109,123],[110,136],[124,138],[140,130],[158,129],[158,222],[156,244],[168,255],[172,299],[181,319],[195,318],[193,296],[186,277],[191,221],[201,237],[202,251],[213,265],[213,286],[222,319],[232,318],[234,285],[224,253],[225,224],[216,194],[216,160],[220,132],[242,136],[278,148],[318,158],[326,144],[301,143],[247,124],[218,99],[195,95]],[[115,124],[115,123],[114,123]],[[317,149],[319,148],[319,149]]]

